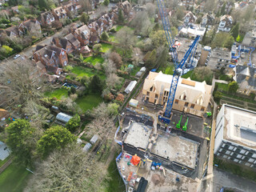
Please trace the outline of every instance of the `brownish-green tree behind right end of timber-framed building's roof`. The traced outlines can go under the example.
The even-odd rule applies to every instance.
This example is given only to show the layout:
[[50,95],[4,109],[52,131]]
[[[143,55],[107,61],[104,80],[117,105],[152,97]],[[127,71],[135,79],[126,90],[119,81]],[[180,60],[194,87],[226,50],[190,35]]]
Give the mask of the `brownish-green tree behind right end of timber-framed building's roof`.
[[209,85],[213,78],[213,72],[210,70],[209,66],[196,67],[191,74],[191,79],[197,82],[206,81]]

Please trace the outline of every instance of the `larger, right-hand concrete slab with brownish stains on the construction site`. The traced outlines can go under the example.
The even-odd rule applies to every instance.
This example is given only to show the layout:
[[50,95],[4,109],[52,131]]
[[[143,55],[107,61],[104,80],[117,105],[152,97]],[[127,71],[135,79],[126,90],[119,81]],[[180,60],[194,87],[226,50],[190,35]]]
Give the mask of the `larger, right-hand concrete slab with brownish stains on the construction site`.
[[198,142],[175,134],[159,134],[151,153],[195,169]]

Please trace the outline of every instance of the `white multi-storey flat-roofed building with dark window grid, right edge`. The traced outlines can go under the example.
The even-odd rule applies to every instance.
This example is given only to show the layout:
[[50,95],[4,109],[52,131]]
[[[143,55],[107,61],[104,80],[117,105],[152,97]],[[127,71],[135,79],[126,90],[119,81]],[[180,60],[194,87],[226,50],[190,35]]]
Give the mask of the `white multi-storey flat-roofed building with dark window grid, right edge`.
[[256,168],[256,112],[222,105],[216,119],[214,154]]

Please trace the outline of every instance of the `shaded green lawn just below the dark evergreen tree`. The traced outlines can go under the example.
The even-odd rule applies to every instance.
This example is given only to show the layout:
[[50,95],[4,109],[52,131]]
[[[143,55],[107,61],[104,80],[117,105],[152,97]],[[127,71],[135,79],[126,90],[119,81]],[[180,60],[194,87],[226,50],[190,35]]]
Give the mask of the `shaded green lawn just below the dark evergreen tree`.
[[84,97],[78,98],[75,102],[80,106],[83,112],[86,112],[86,110],[91,110],[95,106],[98,106],[98,104],[102,102],[102,97],[97,94],[87,94]]

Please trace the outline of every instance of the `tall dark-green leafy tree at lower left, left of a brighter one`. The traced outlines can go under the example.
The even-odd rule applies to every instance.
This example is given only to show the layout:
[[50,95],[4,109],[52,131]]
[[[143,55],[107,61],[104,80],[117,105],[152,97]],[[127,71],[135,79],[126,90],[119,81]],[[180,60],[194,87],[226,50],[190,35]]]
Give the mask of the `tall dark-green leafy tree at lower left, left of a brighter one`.
[[15,160],[25,166],[32,165],[33,151],[37,137],[34,137],[36,130],[30,126],[30,122],[18,119],[6,127],[7,141]]

